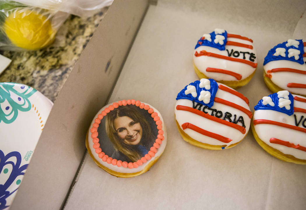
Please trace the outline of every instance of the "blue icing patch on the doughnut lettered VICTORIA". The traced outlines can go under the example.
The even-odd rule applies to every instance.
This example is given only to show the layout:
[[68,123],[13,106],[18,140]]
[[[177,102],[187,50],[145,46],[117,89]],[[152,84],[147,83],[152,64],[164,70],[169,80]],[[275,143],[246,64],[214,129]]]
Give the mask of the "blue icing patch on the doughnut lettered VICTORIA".
[[[193,85],[193,86],[196,87],[196,94],[197,94],[196,97],[193,97],[191,93],[188,93],[187,95],[185,95],[185,90],[187,90],[187,86],[188,86],[188,85],[186,85],[185,88],[182,89],[177,94],[176,100],[179,100],[179,99],[188,99],[188,100],[195,101],[197,103],[203,104],[204,106],[207,106],[209,108],[212,107],[214,105],[215,96],[216,96],[216,93],[218,91],[218,84],[213,79],[208,79],[208,80],[210,81],[210,86],[211,86],[211,88],[209,90],[207,90],[205,88],[200,88],[199,87],[200,81],[197,80],[197,81],[194,81],[194,82],[189,84],[189,85]],[[200,96],[200,92],[202,90],[209,91],[211,93],[211,98],[210,98],[209,103],[204,103],[203,101],[199,101],[198,100],[198,98]]]

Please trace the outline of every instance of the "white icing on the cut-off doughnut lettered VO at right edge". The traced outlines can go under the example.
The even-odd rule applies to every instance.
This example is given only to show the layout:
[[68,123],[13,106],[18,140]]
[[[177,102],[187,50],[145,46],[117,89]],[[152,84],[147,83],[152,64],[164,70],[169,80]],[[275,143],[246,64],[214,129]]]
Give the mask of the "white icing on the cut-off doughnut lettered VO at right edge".
[[[297,96],[297,95],[293,95],[293,97],[294,96]],[[306,99],[303,96],[298,96],[298,97]],[[296,101],[296,100],[293,100],[293,106],[302,108],[302,109],[306,109],[306,103]],[[302,112],[294,112],[294,114],[296,115],[297,121],[299,121],[300,118],[304,116],[303,120],[300,122],[298,127],[305,128],[303,127],[302,123],[304,121],[304,118],[306,117],[306,114]],[[274,111],[274,110],[255,110],[253,120],[258,120],[258,119],[272,120],[272,121],[282,122],[285,124],[296,126],[294,115],[289,116],[285,113]],[[270,125],[270,124],[255,125],[255,131],[259,139],[261,139],[263,142],[265,142],[269,146],[281,151],[284,154],[293,155],[296,158],[306,160],[306,152],[302,150],[298,150],[298,149],[291,148],[291,147],[286,147],[286,146],[275,144],[275,143],[270,143],[271,138],[276,138],[282,141],[289,141],[290,143],[294,143],[295,145],[299,144],[302,147],[306,147],[306,141],[305,141],[306,133],[300,132],[297,130],[293,130],[293,129],[289,129],[289,128],[285,128],[285,127],[281,127],[281,126],[277,126],[277,125]]]

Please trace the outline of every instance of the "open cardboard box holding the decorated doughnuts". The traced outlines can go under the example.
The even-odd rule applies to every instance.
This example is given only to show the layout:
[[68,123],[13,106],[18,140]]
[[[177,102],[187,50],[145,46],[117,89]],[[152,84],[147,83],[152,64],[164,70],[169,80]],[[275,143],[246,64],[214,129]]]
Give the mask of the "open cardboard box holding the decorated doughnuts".
[[[224,28],[254,40],[257,71],[238,90],[253,111],[271,94],[262,78],[269,49],[289,38],[306,40],[306,2],[148,5],[115,0],[109,8],[54,103],[11,209],[305,209],[304,165],[267,154],[251,131],[228,150],[194,147],[177,131],[174,105],[177,93],[198,79],[192,67],[196,41]],[[95,165],[85,136],[107,101],[132,98],[161,112],[168,142],[150,171],[123,179]]]

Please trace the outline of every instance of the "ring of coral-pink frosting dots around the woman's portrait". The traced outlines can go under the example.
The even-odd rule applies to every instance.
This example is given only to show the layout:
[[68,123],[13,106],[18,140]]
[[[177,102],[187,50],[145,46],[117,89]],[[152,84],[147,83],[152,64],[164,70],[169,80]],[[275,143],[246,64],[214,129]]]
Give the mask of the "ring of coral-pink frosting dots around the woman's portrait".
[[[115,108],[118,108],[119,106],[126,106],[126,105],[135,105],[136,107],[139,107],[140,109],[147,110],[149,114],[151,114],[151,117],[155,121],[155,124],[157,125],[158,129],[158,135],[157,139],[155,140],[155,143],[153,144],[153,147],[150,148],[150,151],[144,155],[144,157],[141,157],[136,162],[122,162],[121,160],[113,159],[111,157],[108,157],[104,152],[102,152],[102,149],[100,148],[99,139],[98,137],[98,127],[101,123],[101,120],[104,116],[106,116],[107,113],[114,110]],[[95,122],[92,124],[92,127],[90,129],[91,132],[91,138],[93,144],[93,149],[95,149],[95,153],[98,154],[99,158],[102,159],[103,162],[107,162],[108,164],[117,165],[118,167],[124,167],[124,168],[138,168],[138,166],[142,165],[143,163],[146,163],[148,160],[151,160],[152,157],[155,156],[155,153],[157,152],[157,149],[162,144],[162,141],[165,139],[163,134],[164,131],[162,130],[162,121],[160,120],[160,117],[158,116],[157,112],[154,112],[154,110],[149,106],[145,105],[144,103],[141,103],[139,100],[122,100],[118,102],[114,102],[112,105],[109,105],[106,107],[100,114],[98,114],[98,118],[95,118]]]

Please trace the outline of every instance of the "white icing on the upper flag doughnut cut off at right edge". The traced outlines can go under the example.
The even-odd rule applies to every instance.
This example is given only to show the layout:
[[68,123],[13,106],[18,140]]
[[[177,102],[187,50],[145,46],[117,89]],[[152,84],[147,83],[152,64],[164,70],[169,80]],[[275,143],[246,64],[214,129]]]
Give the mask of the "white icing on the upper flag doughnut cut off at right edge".
[[[304,62],[306,58],[303,58]],[[300,64],[290,60],[274,60],[270,61],[263,66],[265,73],[267,74],[268,70],[275,68],[293,68],[300,71],[306,71],[306,64]],[[271,81],[280,87],[281,89],[288,90],[291,93],[306,95],[306,89],[304,88],[289,88],[287,87],[288,83],[299,83],[306,84],[306,74],[299,74],[295,72],[274,72],[270,73],[272,75]]]

